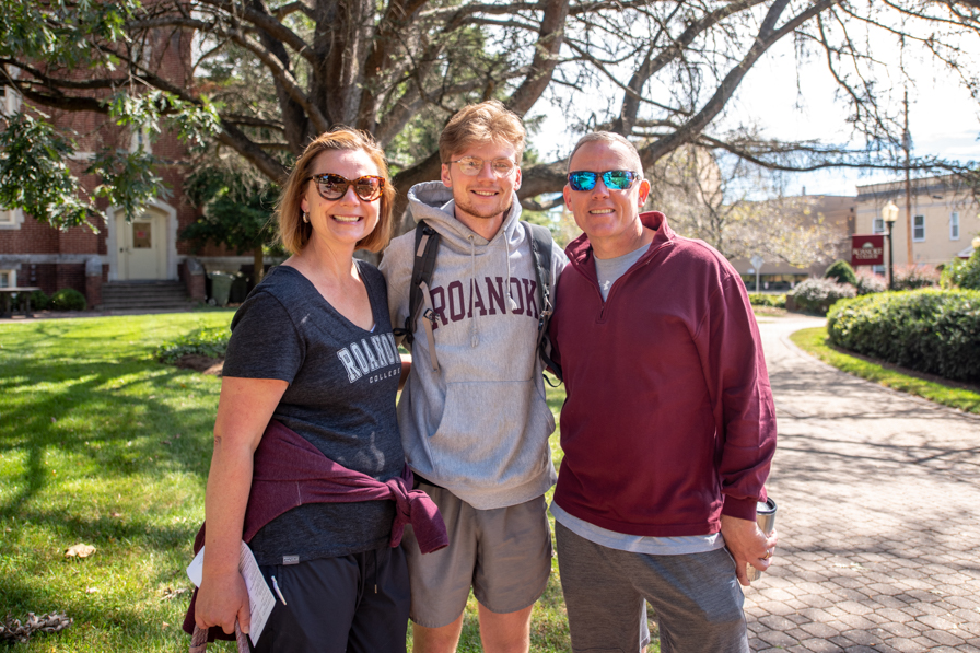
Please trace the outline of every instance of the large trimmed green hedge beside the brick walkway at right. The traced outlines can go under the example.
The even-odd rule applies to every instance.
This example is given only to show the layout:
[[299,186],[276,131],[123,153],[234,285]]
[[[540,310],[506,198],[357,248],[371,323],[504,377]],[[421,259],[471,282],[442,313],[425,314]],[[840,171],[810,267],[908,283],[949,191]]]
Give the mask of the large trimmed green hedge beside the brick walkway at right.
[[830,341],[911,370],[980,381],[980,291],[915,290],[837,303]]

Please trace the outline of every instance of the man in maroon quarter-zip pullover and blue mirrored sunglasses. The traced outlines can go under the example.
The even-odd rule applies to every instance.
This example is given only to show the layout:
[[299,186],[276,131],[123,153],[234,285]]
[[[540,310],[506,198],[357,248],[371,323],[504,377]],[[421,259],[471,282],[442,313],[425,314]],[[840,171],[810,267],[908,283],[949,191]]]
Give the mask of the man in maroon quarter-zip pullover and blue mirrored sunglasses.
[[747,653],[737,581],[777,541],[755,522],[775,416],[748,295],[718,252],[640,213],[625,138],[584,137],[569,171],[585,233],[551,320],[568,390],[551,512],[572,648],[642,651],[649,600],[661,651]]

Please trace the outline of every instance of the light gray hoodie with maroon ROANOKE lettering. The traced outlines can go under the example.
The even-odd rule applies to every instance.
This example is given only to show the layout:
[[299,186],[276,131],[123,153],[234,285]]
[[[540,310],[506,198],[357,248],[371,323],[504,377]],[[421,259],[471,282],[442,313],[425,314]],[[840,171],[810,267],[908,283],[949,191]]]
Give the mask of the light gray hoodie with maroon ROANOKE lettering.
[[[412,186],[408,200],[415,220],[442,236],[430,284],[440,370],[415,325],[412,372],[398,404],[408,464],[479,510],[540,497],[557,478],[548,446],[555,417],[535,348],[540,306],[521,203],[514,196],[503,226],[487,241],[456,220],[452,191],[441,182]],[[415,231],[392,241],[381,264],[396,328],[408,314],[413,249]],[[552,283],[567,264],[552,245]]]

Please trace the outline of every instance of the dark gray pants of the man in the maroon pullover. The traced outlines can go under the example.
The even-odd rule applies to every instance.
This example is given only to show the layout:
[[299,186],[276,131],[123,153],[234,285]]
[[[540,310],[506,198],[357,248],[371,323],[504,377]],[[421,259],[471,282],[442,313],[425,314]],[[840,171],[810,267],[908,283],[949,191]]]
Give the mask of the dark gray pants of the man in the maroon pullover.
[[555,524],[572,650],[633,653],[656,610],[662,653],[748,653],[745,596],[725,549],[649,556],[610,549]]

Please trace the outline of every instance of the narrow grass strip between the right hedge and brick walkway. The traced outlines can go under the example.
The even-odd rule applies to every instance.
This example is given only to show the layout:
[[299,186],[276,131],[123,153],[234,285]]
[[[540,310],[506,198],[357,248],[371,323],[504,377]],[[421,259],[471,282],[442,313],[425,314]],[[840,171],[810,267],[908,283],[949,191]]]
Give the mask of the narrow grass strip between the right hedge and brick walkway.
[[865,357],[848,353],[830,345],[826,327],[803,329],[790,336],[790,339],[807,353],[838,370],[910,395],[918,395],[943,406],[980,415],[980,392],[976,388],[953,381],[925,378],[925,375],[897,369],[889,363],[878,363]]

